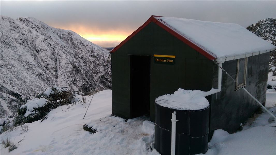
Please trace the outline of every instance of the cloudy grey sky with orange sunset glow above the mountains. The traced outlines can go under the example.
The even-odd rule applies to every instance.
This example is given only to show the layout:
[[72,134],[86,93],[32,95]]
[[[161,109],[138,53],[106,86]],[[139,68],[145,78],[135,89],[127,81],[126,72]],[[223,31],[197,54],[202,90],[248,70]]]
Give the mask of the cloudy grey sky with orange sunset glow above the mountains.
[[34,17],[70,29],[102,47],[115,47],[151,15],[237,23],[276,17],[276,1],[2,1],[0,15]]

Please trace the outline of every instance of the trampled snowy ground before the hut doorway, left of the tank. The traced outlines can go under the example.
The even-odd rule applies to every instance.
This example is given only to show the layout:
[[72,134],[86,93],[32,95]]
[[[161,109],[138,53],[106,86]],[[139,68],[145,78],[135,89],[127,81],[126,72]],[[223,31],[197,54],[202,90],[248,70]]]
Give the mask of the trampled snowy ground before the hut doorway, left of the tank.
[[[86,102],[91,96],[85,96]],[[80,97],[80,99],[82,99]],[[22,127],[1,134],[1,139],[18,142],[18,148],[0,154],[158,154],[148,147],[152,142],[154,124],[147,118],[124,119],[110,117],[112,113],[111,90],[95,94],[83,119],[88,104],[63,105],[49,113],[44,121],[26,123]],[[84,124],[93,124],[98,132],[83,130]],[[144,124],[144,125],[143,125]]]

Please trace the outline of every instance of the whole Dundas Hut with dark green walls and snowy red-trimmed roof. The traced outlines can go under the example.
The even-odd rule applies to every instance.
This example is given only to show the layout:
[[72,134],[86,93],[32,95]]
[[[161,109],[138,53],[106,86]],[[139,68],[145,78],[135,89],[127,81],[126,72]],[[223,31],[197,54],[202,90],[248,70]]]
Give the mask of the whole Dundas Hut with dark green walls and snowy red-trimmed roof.
[[[112,113],[124,119],[155,119],[155,99],[179,88],[217,87],[218,66],[265,104],[271,43],[238,24],[150,17],[115,47],[112,59]],[[209,136],[233,133],[259,107],[222,73],[221,91],[207,96]],[[185,101],[184,101],[185,102]]]

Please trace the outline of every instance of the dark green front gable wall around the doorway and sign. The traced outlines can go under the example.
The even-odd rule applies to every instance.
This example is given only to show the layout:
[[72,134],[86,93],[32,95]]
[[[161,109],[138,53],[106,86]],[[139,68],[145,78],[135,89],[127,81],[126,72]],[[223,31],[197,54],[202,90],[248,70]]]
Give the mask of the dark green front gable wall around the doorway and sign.
[[[154,54],[175,55],[176,64],[155,64]],[[213,62],[155,23],[150,23],[112,53],[113,115],[125,119],[131,118],[129,55],[151,56],[150,119],[152,121],[155,112],[154,101],[157,97],[172,94],[178,88],[209,91],[212,87]]]

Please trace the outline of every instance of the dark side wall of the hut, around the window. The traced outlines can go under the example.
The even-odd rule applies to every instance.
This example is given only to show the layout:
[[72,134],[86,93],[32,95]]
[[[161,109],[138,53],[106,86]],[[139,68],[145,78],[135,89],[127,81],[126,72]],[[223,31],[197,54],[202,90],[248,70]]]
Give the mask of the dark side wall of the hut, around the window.
[[[269,53],[248,57],[246,86],[253,96],[265,103]],[[237,60],[226,61],[223,69],[234,79],[237,74]],[[213,86],[217,85],[217,70],[214,69]],[[223,129],[233,133],[240,123],[248,119],[259,107],[243,89],[235,91],[236,85],[230,77],[222,72],[222,90],[212,95],[210,115],[210,136],[214,130]]]

